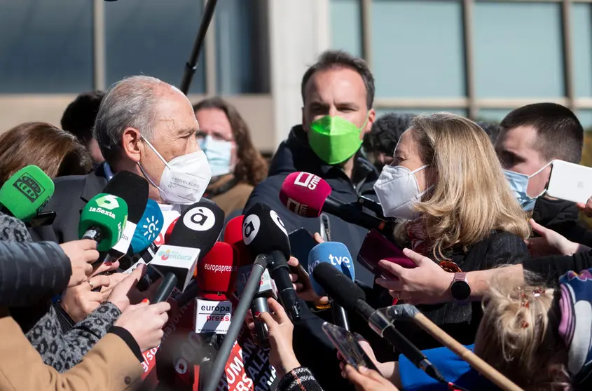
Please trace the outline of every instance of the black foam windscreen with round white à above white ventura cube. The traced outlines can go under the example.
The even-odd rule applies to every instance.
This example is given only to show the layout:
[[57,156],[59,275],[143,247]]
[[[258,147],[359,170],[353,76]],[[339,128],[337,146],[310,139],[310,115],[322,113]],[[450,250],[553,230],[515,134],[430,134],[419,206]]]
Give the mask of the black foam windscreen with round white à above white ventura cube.
[[189,206],[172,228],[167,245],[200,249],[200,259],[218,240],[224,226],[224,212],[210,200]]

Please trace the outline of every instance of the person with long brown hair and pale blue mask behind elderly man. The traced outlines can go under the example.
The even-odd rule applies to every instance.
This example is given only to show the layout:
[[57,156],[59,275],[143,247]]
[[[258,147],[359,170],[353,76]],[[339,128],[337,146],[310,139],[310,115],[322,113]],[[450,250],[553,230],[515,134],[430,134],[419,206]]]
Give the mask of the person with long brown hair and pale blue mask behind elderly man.
[[242,212],[256,184],[267,175],[267,162],[255,149],[247,123],[236,108],[219,97],[193,105],[200,130],[197,137],[212,168],[205,197],[226,217]]

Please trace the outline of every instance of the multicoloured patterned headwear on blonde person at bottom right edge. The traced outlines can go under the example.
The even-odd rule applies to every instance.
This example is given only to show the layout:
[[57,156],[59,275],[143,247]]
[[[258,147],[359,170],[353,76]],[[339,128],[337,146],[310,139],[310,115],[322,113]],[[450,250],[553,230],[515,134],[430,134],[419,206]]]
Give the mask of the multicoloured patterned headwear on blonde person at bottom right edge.
[[574,383],[592,372],[592,269],[570,270],[559,279],[561,322],[559,335],[567,347],[567,369]]

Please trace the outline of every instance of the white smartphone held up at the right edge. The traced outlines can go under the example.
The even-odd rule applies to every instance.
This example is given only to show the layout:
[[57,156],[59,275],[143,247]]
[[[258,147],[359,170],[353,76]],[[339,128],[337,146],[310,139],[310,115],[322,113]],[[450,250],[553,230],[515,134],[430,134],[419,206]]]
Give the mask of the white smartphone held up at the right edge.
[[592,168],[553,160],[546,194],[574,203],[586,203],[592,197]]

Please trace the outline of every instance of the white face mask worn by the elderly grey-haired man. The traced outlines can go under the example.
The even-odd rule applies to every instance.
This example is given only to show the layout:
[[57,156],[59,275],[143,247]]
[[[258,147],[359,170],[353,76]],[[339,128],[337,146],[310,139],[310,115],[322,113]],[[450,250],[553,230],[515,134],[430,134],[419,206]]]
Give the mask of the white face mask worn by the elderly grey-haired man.
[[156,156],[165,163],[165,170],[160,177],[160,186],[146,174],[142,165],[139,165],[144,177],[150,183],[158,188],[160,197],[166,203],[173,205],[191,205],[197,203],[202,198],[209,180],[212,179],[212,171],[209,169],[207,158],[203,151],[189,153],[179,156],[167,163],[163,156],[142,137],[150,149],[156,153]]

